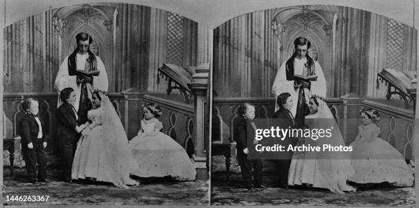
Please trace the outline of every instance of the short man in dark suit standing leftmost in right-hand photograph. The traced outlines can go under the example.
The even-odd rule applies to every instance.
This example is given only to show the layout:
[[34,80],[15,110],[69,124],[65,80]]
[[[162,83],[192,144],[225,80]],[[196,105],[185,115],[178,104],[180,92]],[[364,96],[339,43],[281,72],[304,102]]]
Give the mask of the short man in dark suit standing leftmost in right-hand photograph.
[[[240,170],[242,171],[242,177],[244,185],[247,189],[251,190],[255,188],[265,188],[262,185],[262,170],[264,168],[263,161],[260,159],[247,159],[249,150],[247,148],[248,138],[248,125],[256,129],[255,122],[255,107],[249,103],[244,103],[238,108],[240,114],[240,120],[238,120],[236,127],[234,127],[234,139],[237,142],[237,157],[240,164]],[[255,131],[250,131],[255,132]],[[251,138],[255,138],[255,135],[249,135]],[[253,183],[252,183],[252,167],[253,167]]]

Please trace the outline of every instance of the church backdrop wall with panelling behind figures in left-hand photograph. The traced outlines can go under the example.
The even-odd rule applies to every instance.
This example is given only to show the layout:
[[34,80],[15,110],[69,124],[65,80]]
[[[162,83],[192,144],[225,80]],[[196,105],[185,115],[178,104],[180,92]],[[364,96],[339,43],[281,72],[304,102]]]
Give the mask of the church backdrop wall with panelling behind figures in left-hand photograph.
[[[36,14],[5,28],[3,138],[18,136],[17,124],[24,115],[23,98],[34,97],[40,102],[40,116],[46,121],[47,140],[51,144],[47,151],[58,153],[55,142],[58,93],[53,85],[62,60],[74,51],[75,36],[81,31],[92,36],[90,49],[105,64],[109,96],[129,139],[139,130],[142,97],[162,96],[165,99],[157,99],[166,107],[161,118],[162,131],[190,155],[199,157],[195,158],[196,164],[199,170],[204,170],[209,142],[197,133],[203,131],[203,124],[197,122],[204,120],[203,113],[195,114],[194,96],[186,100],[177,90],[167,95],[167,81],[157,77],[157,70],[165,63],[199,65],[201,71],[210,66],[212,47],[208,45],[212,45],[212,30],[183,16],[142,5],[74,5]],[[203,75],[198,77],[204,78],[207,80]],[[172,109],[173,101],[179,109],[186,106],[188,112]]]

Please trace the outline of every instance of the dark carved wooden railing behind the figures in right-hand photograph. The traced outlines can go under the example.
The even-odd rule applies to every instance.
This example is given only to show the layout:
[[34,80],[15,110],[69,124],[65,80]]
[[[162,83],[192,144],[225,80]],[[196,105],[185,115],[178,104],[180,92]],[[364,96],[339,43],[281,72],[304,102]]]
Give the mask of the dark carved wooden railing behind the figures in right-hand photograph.
[[[345,104],[342,99],[329,98],[326,102],[340,127],[346,144],[353,142],[357,127],[361,124],[357,110],[362,107],[377,109],[381,115],[378,125],[380,138],[388,141],[403,154],[405,159],[413,158],[414,111],[379,101],[364,100],[359,104]],[[269,118],[275,111],[274,98],[214,98],[212,111],[212,142],[228,144],[233,142],[232,128],[238,118],[238,106],[242,103],[255,105],[256,118]],[[348,116],[351,115],[351,116]],[[356,131],[356,132],[355,132]],[[345,138],[346,137],[348,138]]]

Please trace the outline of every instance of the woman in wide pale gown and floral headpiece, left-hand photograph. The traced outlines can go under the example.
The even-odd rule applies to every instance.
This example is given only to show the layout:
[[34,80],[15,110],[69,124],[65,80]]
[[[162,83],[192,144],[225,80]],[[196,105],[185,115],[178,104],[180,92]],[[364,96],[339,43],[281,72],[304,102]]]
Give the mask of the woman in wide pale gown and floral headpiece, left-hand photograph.
[[178,181],[193,181],[196,170],[185,149],[170,136],[160,132],[162,114],[155,104],[143,105],[144,118],[138,135],[130,142],[132,153],[138,163],[136,176],[173,177]]

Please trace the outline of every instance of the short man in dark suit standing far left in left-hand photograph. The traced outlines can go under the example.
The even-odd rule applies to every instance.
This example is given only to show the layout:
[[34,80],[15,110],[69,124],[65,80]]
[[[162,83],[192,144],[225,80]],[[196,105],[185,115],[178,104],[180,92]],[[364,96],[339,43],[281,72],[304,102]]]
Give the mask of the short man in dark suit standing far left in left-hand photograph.
[[[51,181],[47,179],[45,127],[42,120],[38,118],[38,101],[30,98],[25,99],[23,109],[26,115],[19,122],[19,133],[29,182],[49,183]],[[38,162],[38,181],[36,181],[36,162]]]

